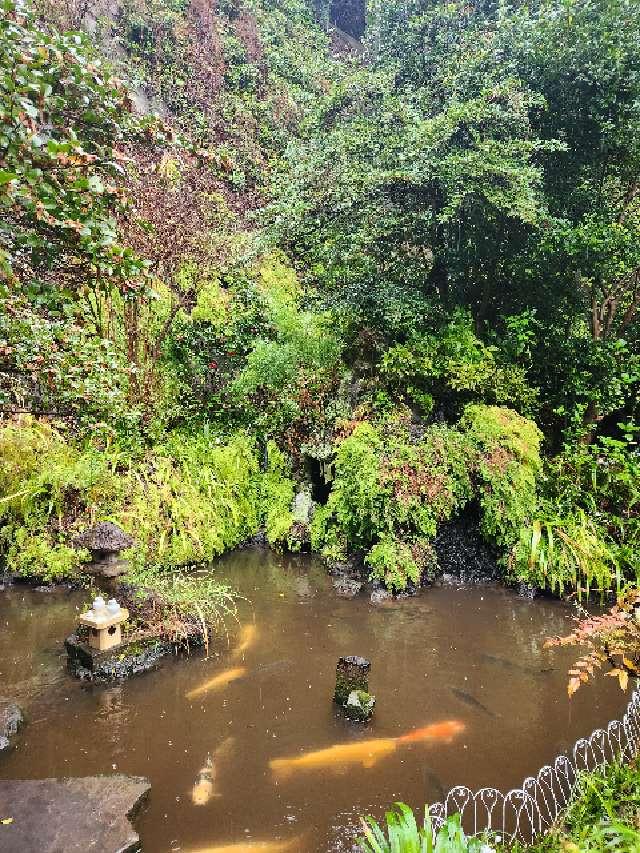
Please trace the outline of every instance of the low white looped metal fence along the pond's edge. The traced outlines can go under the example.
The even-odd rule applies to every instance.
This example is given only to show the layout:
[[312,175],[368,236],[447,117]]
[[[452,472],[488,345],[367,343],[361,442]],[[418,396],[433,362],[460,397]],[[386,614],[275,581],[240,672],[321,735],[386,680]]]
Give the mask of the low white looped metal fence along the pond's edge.
[[576,741],[570,752],[559,755],[521,788],[506,794],[497,788],[471,791],[463,785],[452,788],[442,803],[429,808],[434,832],[449,815],[459,812],[469,834],[489,830],[503,840],[530,843],[544,834],[569,805],[583,771],[596,770],[617,758],[631,760],[640,748],[640,689],[636,687],[622,720],[606,729],[596,729]]

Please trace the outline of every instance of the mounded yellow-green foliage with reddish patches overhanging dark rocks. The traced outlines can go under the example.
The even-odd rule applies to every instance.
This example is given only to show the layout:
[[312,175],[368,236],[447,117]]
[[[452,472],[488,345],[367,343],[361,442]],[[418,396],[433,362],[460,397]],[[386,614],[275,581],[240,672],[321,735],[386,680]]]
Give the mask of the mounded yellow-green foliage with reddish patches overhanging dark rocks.
[[361,551],[394,589],[434,568],[438,525],[472,498],[482,531],[505,547],[537,509],[540,435],[509,409],[473,405],[457,428],[432,426],[412,440],[408,425],[356,426],[337,448],[335,480],[316,512],[312,544],[331,558]]

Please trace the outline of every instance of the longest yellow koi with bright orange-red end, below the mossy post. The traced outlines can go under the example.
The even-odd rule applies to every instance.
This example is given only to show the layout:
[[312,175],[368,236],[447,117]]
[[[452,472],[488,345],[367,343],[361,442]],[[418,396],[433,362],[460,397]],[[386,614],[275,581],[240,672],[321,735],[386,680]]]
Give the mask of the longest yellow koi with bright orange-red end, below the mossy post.
[[273,774],[279,777],[289,776],[296,770],[330,769],[340,773],[352,764],[361,764],[368,769],[395,752],[398,746],[428,741],[449,743],[457,734],[464,731],[464,728],[464,724],[457,720],[446,720],[416,729],[401,737],[338,743],[295,758],[274,758],[269,762],[269,766]]

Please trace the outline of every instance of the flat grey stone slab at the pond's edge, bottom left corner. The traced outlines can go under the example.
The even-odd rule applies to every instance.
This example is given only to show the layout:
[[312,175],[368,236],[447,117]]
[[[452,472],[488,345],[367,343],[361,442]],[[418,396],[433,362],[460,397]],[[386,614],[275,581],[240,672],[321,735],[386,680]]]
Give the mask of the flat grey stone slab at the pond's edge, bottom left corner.
[[[140,776],[0,780],[0,853],[130,853],[129,817],[150,789]],[[3,824],[7,818],[11,823]]]

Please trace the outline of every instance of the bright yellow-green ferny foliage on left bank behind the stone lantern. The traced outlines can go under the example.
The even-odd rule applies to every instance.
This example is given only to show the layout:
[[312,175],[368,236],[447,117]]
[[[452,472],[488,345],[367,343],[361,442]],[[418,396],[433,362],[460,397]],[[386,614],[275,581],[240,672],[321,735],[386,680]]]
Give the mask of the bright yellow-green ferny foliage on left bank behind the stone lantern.
[[70,548],[73,535],[101,519],[134,537],[126,556],[138,574],[209,562],[257,533],[265,517],[273,541],[287,532],[293,484],[284,462],[262,475],[242,435],[223,443],[169,434],[136,458],[78,448],[51,427],[21,421],[0,429],[0,458],[0,543],[20,574],[75,574],[88,555]]

